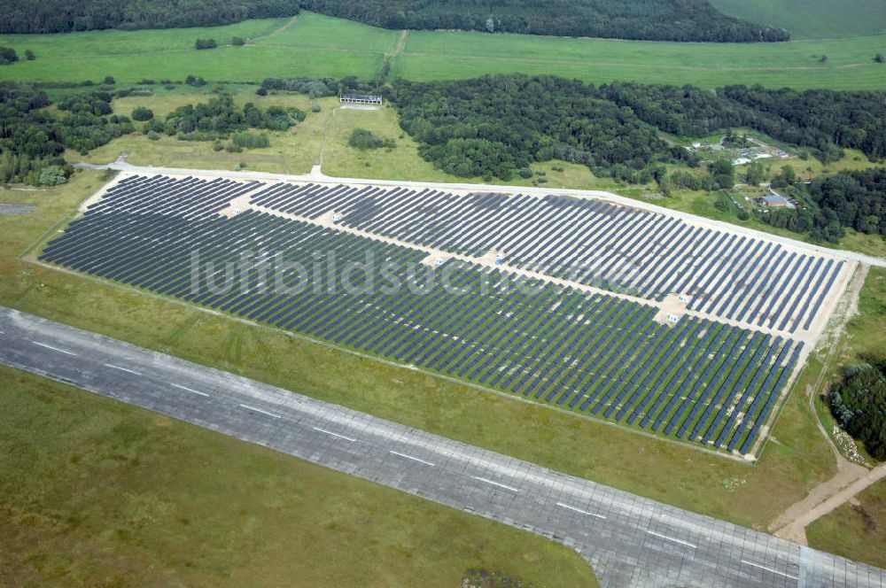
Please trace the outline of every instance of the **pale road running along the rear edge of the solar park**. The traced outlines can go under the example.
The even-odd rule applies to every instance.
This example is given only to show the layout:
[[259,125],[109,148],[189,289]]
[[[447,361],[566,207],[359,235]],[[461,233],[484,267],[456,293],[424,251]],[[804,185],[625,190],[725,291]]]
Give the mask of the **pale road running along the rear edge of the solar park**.
[[789,239],[788,237],[777,236],[771,233],[745,228],[740,225],[734,225],[730,222],[714,221],[696,214],[682,213],[680,211],[665,208],[664,206],[654,205],[650,202],[642,200],[634,200],[633,198],[618,196],[611,192],[602,190],[566,190],[562,188],[534,188],[527,186],[496,186],[492,184],[468,184],[468,183],[442,183],[442,182],[406,182],[392,180],[371,180],[365,178],[336,178],[319,172],[318,166],[315,167],[311,174],[291,175],[291,174],[270,174],[266,172],[250,172],[250,171],[230,171],[230,170],[210,170],[210,169],[186,169],[180,167],[149,167],[134,166],[121,159],[113,161],[109,164],[74,164],[76,167],[84,169],[113,169],[120,172],[130,172],[133,174],[173,174],[173,175],[198,175],[203,177],[223,177],[235,180],[256,180],[259,182],[325,182],[325,183],[344,183],[355,185],[369,186],[403,186],[408,188],[431,188],[435,190],[468,190],[478,192],[501,192],[505,194],[525,194],[527,196],[572,196],[572,197],[596,197],[610,202],[616,202],[620,205],[633,206],[641,210],[647,210],[653,213],[668,214],[682,221],[693,225],[702,225],[705,227],[720,228],[739,235],[751,236],[755,238],[763,238],[774,243],[788,245],[800,250],[813,251],[830,255],[836,259],[846,259],[857,261],[870,266],[886,267],[886,259],[856,253],[854,251],[843,251],[839,249],[829,249],[828,247],[820,247],[819,245],[804,243],[797,239]]

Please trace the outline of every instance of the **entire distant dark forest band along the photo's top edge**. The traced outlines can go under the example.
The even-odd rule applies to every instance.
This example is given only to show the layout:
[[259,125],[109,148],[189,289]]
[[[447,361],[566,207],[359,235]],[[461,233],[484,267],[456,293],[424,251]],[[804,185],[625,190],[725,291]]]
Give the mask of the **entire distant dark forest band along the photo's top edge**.
[[213,27],[300,9],[385,28],[593,36],[649,41],[787,41],[781,28],[727,17],[707,0],[12,0],[0,33]]

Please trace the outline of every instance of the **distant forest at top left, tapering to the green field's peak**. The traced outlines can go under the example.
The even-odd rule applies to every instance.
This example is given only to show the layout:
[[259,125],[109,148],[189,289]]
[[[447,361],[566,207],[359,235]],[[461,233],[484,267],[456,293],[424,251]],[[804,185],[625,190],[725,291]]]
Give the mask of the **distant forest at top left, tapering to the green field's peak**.
[[11,0],[0,11],[0,33],[216,27],[298,13],[292,0]]

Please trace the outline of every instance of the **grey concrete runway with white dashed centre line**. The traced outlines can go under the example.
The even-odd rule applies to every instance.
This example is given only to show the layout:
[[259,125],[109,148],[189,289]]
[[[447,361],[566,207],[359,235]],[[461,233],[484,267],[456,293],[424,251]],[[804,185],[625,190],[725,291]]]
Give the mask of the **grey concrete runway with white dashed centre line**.
[[886,588],[882,569],[2,306],[0,362],[552,538],[603,586]]

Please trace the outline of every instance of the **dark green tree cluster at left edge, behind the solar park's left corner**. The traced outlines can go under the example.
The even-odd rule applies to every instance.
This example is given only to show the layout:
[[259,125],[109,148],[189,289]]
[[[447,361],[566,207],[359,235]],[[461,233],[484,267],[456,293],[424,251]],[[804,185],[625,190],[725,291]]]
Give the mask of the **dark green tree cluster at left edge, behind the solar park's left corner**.
[[0,183],[58,183],[66,148],[90,151],[133,132],[127,117],[111,114],[111,98],[107,92],[67,98],[56,118],[44,110],[50,104],[44,92],[0,83]]

